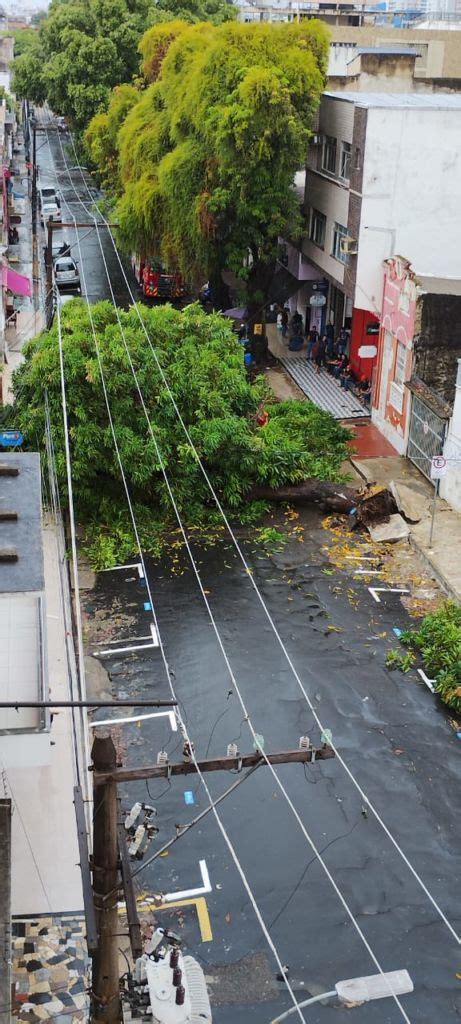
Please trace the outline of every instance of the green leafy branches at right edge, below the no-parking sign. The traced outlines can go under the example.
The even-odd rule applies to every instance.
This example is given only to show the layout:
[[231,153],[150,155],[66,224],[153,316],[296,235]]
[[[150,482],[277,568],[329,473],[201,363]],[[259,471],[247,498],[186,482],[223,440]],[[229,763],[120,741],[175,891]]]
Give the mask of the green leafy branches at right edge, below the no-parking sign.
[[[444,602],[423,618],[418,630],[406,631],[401,640],[419,651],[425,672],[435,680],[435,691],[445,703],[460,714],[461,606],[454,601]],[[402,655],[404,659],[406,656]]]

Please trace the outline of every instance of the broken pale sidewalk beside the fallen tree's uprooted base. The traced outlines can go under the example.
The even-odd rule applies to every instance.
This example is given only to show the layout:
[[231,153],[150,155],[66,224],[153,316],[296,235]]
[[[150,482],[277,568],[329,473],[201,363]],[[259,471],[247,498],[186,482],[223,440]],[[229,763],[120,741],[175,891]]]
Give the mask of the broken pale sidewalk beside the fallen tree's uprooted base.
[[350,462],[368,483],[396,484],[404,514],[413,520],[409,523],[410,543],[449,597],[461,602],[461,514],[437,498],[433,541],[429,547],[433,502],[430,481],[404,456],[371,459],[352,456]]

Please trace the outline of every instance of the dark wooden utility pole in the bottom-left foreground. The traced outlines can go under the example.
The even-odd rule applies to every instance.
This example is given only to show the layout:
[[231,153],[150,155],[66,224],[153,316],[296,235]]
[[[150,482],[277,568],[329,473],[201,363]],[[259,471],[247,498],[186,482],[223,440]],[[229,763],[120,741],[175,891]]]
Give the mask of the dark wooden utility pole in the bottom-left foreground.
[[[98,771],[116,768],[116,749],[108,730],[97,730],[91,754]],[[117,810],[117,785],[104,782],[97,791],[93,811],[93,897],[98,946],[92,954],[91,986],[91,1019],[104,1024],[118,1024],[121,1016]]]

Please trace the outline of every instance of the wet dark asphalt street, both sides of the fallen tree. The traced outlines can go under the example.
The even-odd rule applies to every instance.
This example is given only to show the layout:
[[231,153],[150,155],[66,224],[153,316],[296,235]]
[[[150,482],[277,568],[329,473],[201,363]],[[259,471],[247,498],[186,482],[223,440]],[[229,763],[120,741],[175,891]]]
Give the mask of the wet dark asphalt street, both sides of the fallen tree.
[[[59,181],[76,218],[88,219],[62,174],[55,136],[50,137],[50,147],[43,145],[39,163],[43,179]],[[89,206],[78,172],[73,172],[73,181]],[[107,232],[102,240],[117,301],[125,305],[127,291]],[[95,232],[82,238],[81,245],[90,301],[109,298]],[[389,641],[378,634],[388,634],[392,626],[407,622],[399,596],[387,595],[378,606],[351,569],[325,574],[328,562],[321,549],[328,535],[317,513],[304,516],[304,544],[292,541],[283,554],[265,557],[247,544],[255,579],[323,722],[459,930],[460,742],[447,713],[415,673],[402,676],[383,668]],[[293,749],[305,733],[319,742],[312,715],[234,549],[222,540],[209,551],[197,549],[196,556],[265,750]],[[150,563],[150,579],[197,755],[225,754],[230,739],[242,752],[251,751],[248,727],[236,694],[228,693],[226,669],[184,556],[177,562]],[[88,622],[97,614],[108,637],[143,635],[150,622],[142,610],[144,600],[145,589],[131,572],[100,574],[95,591],[87,596]],[[342,632],[330,631],[329,625]],[[169,695],[158,651],[106,659],[104,667],[111,672],[115,696]],[[178,735],[165,721],[121,728],[127,763],[152,763],[161,746],[180,760]],[[382,968],[409,970],[415,992],[402,1000],[409,1019],[414,1024],[458,1020],[459,947],[378,822],[370,813],[363,815],[360,794],[341,765],[330,761],[305,770],[287,765],[278,771]],[[210,774],[207,781],[218,795],[234,778]],[[184,791],[194,793],[193,807],[185,805]],[[121,796],[127,808],[136,799],[157,806],[160,833],[151,852],[174,835],[175,823],[191,820],[207,803],[200,783],[191,776],[173,779],[170,785],[151,782],[149,792],[144,783],[132,783]],[[330,989],[340,978],[376,973],[268,769],[260,768],[244,782],[220,805],[219,813],[282,962],[290,967],[297,997]],[[212,815],[180,839],[167,857],[145,868],[136,884],[146,892],[200,887],[200,859],[206,860],[212,886],[207,904],[213,940],[201,942],[193,907],[182,909],[179,920],[177,910],[162,911],[162,921],[178,927],[187,951],[202,959],[215,1024],[268,1024],[276,1012],[290,1006],[290,997],[276,981],[271,953]],[[390,998],[350,1013],[367,1024],[403,1019]],[[331,1005],[304,1011],[309,1024],[330,1024],[337,1015]]]

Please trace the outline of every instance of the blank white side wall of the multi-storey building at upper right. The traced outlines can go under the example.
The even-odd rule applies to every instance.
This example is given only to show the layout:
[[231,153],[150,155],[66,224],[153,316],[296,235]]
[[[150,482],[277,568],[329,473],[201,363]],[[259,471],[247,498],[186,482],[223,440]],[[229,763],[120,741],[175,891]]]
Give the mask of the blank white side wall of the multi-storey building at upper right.
[[461,110],[369,108],[355,305],[379,315],[392,253],[417,273],[459,278],[460,208]]

